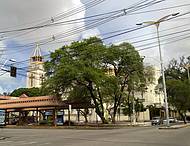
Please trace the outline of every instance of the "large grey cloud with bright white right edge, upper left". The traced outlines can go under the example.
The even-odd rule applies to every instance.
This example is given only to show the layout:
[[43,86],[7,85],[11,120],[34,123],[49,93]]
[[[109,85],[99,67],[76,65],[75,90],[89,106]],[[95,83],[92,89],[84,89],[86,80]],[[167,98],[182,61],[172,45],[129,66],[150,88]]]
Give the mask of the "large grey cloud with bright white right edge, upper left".
[[[3,1],[0,5],[0,18],[1,18],[0,29],[12,30],[12,29],[35,26],[36,24],[39,24],[43,22],[44,20],[50,21],[51,17],[56,16],[57,14],[60,14],[64,11],[70,10],[71,8],[73,8],[73,6],[77,7],[81,5],[82,3],[80,2],[80,0],[72,0],[72,1],[71,0],[64,0],[64,1],[54,0],[54,1],[48,1],[48,2],[47,0],[33,0],[30,2],[26,0],[14,0],[14,2],[12,0],[6,0],[6,1]],[[60,20],[60,21],[66,21],[69,19],[83,17],[84,13],[85,12],[81,12],[72,17],[64,18],[63,20]],[[84,23],[80,25],[84,25]],[[42,28],[35,31],[31,31],[30,33],[27,33],[20,37],[15,37],[15,33],[8,34],[8,37],[10,37],[9,41],[14,40],[18,44],[38,42],[46,38],[51,38],[53,35],[56,35],[57,33],[74,29],[77,26],[78,24],[73,24],[73,25],[70,24],[69,26],[63,25],[59,27],[48,27],[48,28]],[[72,38],[77,38],[78,36],[79,35],[75,35]],[[54,45],[54,46],[51,45],[52,48],[57,47],[57,46],[58,45]],[[41,48],[46,49],[47,46],[44,46]]]

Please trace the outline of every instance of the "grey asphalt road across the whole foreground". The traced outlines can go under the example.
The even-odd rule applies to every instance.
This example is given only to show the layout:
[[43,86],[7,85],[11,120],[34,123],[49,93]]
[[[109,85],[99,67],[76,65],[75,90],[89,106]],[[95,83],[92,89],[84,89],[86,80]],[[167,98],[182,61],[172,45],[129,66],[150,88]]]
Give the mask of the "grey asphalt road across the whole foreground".
[[3,129],[0,146],[190,146],[190,128],[114,130]]

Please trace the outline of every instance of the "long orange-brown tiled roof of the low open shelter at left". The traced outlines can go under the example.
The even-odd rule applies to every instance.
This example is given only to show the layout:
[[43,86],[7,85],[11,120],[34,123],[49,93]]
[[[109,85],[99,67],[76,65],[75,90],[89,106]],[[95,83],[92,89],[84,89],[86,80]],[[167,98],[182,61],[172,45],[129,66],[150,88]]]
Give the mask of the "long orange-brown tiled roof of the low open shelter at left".
[[38,96],[38,97],[10,97],[3,96],[0,97],[0,109],[26,109],[26,108],[51,108],[51,107],[60,107],[67,109],[69,104],[72,105],[72,108],[87,108],[94,107],[90,103],[84,102],[68,102],[61,101],[54,96]]

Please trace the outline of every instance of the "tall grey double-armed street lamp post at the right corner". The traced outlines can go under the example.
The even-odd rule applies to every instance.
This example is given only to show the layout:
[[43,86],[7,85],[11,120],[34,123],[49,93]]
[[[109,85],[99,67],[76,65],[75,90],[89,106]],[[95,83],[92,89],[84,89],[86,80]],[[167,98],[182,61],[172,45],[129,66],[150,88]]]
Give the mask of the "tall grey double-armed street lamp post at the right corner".
[[165,100],[165,110],[166,110],[166,121],[167,121],[167,126],[169,127],[169,112],[168,112],[168,100],[167,100],[167,93],[166,93],[166,79],[165,79],[165,74],[164,74],[164,65],[163,65],[163,59],[162,59],[162,50],[161,50],[161,45],[160,45],[160,35],[159,35],[159,26],[160,23],[163,21],[166,21],[167,18],[176,16],[179,13],[175,14],[170,14],[167,16],[162,17],[158,21],[148,21],[148,22],[143,22],[139,23],[137,25],[143,25],[143,24],[148,24],[148,25],[155,25],[156,26],[156,32],[157,32],[157,39],[158,39],[158,48],[159,48],[159,55],[160,55],[160,67],[161,67],[161,73],[162,73],[162,82],[163,82],[163,89],[164,89],[164,100]]

